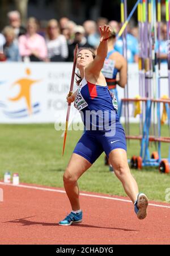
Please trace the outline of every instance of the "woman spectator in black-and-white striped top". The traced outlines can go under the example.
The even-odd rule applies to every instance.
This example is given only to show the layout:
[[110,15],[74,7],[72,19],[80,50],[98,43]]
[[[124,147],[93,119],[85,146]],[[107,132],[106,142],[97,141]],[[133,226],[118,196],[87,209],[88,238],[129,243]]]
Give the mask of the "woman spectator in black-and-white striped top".
[[56,19],[51,19],[47,27],[48,59],[50,61],[65,61],[68,57],[68,46],[65,36],[60,34],[59,24]]

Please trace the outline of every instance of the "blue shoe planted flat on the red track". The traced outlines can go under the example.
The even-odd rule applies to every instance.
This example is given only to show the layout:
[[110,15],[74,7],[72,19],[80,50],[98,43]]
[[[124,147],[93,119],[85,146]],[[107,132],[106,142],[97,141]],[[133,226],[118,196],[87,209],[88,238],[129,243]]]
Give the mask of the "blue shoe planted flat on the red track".
[[70,226],[71,224],[79,224],[82,222],[82,216],[82,211],[80,213],[71,212],[64,220],[59,221],[59,225]]

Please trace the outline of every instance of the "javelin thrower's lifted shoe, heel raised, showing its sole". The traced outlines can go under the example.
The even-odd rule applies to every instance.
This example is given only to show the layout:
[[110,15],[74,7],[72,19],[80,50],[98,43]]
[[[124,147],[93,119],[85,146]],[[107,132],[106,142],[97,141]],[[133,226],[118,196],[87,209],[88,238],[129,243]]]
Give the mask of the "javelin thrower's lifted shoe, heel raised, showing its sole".
[[143,220],[147,216],[148,199],[143,193],[138,193],[137,201],[134,203],[134,211],[139,220]]

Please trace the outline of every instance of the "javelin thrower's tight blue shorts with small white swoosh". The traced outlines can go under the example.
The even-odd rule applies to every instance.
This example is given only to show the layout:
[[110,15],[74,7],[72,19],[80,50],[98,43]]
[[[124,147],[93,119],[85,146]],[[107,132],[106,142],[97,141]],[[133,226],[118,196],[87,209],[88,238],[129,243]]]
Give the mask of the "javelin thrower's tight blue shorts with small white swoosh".
[[110,152],[116,148],[127,150],[123,127],[117,127],[113,137],[107,137],[101,131],[85,131],[73,153],[83,156],[93,164],[103,151],[109,157]]

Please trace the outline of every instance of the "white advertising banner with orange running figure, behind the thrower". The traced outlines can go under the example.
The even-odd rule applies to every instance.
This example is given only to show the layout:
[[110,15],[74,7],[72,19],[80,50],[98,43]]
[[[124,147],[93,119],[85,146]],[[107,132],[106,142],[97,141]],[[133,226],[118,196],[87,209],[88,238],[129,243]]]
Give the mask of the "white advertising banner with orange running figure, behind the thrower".
[[[0,123],[65,122],[73,63],[0,63],[0,68]],[[167,69],[162,70],[167,75]],[[128,81],[129,97],[133,98],[139,94],[137,64],[129,65]],[[117,87],[120,100],[124,89]],[[162,94],[168,94],[165,79],[161,90]],[[129,109],[131,121],[137,121],[139,117],[133,118],[133,104]],[[73,106],[70,119],[81,120]]]

